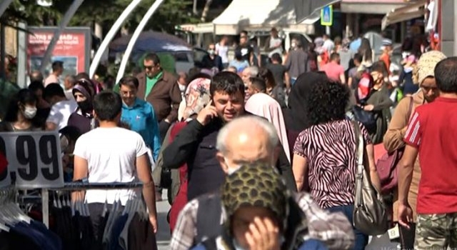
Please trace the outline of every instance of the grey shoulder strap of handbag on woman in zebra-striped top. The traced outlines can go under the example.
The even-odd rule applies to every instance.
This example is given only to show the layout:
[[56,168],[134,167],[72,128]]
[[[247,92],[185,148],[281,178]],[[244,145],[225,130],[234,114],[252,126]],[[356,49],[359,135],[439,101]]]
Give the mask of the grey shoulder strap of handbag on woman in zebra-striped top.
[[[356,156],[357,156],[357,174],[356,174],[356,194],[360,194],[362,191],[362,179],[363,179],[363,171],[365,167],[363,166],[363,135],[360,129],[360,125],[358,125],[357,121],[352,121],[354,134],[356,136]],[[361,195],[356,195],[356,201],[354,202],[354,206],[358,206],[362,203]]]

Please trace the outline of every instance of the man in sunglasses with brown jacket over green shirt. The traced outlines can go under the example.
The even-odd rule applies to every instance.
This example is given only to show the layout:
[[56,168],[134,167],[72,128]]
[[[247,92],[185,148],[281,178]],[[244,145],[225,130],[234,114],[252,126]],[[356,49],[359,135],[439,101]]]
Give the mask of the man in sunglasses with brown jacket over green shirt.
[[139,81],[137,96],[154,107],[163,141],[170,124],[178,119],[181,91],[176,76],[161,68],[159,56],[147,54],[143,63],[144,72],[136,76]]

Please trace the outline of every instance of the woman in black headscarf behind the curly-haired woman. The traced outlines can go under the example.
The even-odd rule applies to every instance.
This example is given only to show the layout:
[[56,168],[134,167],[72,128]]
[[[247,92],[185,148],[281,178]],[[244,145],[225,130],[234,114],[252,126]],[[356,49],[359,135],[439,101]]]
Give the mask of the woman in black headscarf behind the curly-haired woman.
[[298,134],[311,126],[307,114],[307,100],[310,95],[309,89],[311,89],[313,84],[322,84],[327,79],[326,74],[322,71],[307,72],[298,76],[295,84],[291,87],[291,92],[288,94],[288,108],[283,109],[291,156],[293,155],[293,144],[295,144]]

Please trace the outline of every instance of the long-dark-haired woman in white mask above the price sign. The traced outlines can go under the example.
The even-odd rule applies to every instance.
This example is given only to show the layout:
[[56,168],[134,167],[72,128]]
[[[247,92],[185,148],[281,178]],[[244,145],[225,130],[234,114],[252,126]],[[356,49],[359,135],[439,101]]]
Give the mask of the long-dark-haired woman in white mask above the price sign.
[[9,102],[0,131],[39,131],[44,130],[35,120],[37,99],[33,91],[21,89]]

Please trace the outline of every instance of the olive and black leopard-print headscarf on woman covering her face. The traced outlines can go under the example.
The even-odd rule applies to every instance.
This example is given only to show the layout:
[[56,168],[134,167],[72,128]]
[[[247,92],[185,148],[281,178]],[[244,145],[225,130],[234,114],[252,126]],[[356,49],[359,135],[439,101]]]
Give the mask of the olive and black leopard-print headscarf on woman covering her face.
[[221,189],[228,231],[231,216],[244,206],[270,210],[282,223],[281,228],[286,228],[289,197],[287,190],[283,179],[271,165],[253,163],[241,166],[235,173],[226,177]]

